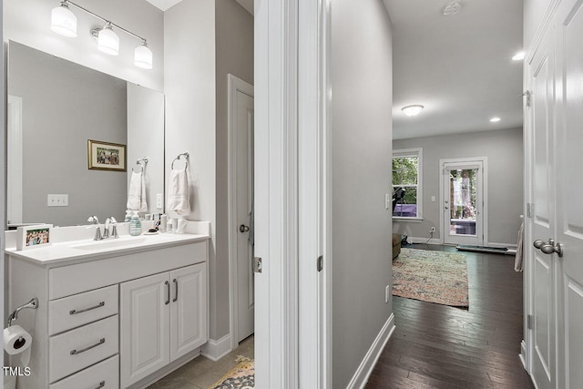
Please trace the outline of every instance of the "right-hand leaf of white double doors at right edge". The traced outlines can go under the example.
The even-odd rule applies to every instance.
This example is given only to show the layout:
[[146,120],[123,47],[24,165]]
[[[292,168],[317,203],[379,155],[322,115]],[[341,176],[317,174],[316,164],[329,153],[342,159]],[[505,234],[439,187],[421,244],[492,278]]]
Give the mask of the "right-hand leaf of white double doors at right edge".
[[[558,264],[557,384],[583,387],[583,3],[563,1],[557,10],[557,76],[562,86],[557,111],[557,227],[555,240],[564,249]],[[544,239],[544,238],[543,238]]]

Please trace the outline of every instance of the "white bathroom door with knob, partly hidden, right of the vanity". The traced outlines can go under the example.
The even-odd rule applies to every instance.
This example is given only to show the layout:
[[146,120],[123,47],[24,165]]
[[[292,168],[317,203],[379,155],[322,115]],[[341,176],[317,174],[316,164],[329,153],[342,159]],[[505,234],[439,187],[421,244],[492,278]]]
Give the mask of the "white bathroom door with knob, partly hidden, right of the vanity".
[[253,258],[253,86],[229,75],[230,99],[230,231],[236,280],[236,341],[254,332]]

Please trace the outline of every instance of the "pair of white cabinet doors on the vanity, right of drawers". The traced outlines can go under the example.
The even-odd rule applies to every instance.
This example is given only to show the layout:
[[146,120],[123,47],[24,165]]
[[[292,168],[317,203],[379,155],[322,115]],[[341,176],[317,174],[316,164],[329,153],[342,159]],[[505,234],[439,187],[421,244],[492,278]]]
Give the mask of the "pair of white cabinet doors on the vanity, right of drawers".
[[206,263],[120,285],[120,374],[128,387],[207,342]]

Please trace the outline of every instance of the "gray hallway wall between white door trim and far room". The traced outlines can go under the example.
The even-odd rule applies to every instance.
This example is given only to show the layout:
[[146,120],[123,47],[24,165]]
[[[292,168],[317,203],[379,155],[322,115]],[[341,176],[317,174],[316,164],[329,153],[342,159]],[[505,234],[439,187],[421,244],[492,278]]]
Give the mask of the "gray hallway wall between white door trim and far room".
[[[337,27],[338,26],[338,27]],[[332,6],[332,386],[343,388],[393,312],[392,28],[380,0]]]

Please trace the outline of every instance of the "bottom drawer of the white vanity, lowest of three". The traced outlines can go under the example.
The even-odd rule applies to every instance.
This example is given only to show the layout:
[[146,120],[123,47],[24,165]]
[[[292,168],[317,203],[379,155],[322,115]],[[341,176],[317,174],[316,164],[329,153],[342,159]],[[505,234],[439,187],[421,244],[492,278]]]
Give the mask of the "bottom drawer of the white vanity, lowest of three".
[[52,384],[49,389],[118,389],[119,356],[94,364],[77,374]]

